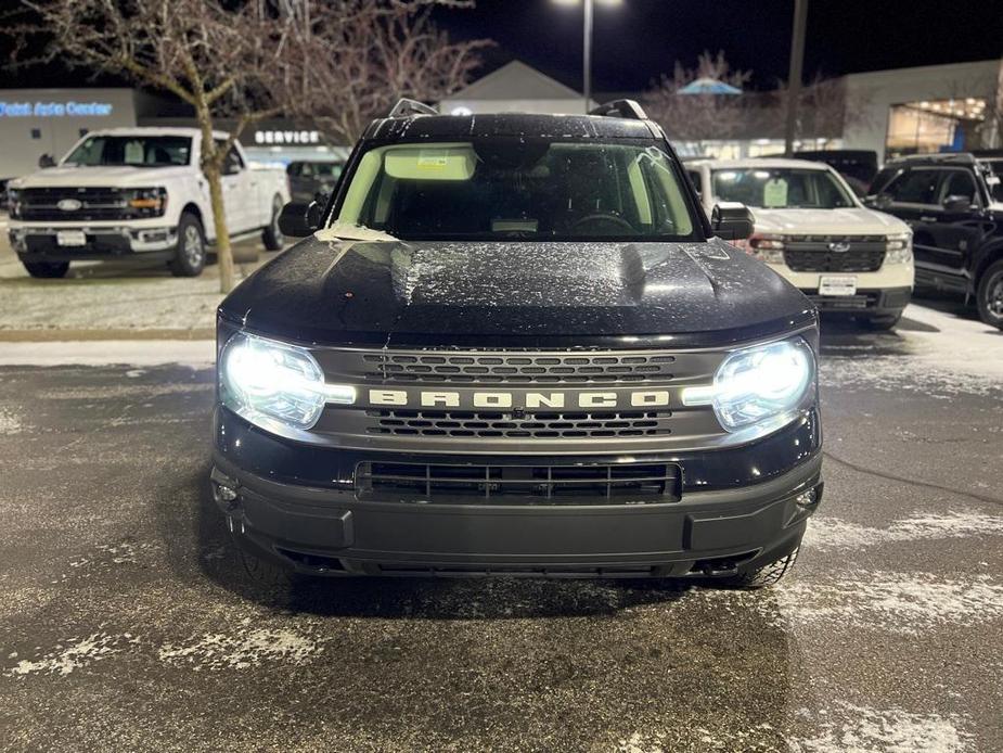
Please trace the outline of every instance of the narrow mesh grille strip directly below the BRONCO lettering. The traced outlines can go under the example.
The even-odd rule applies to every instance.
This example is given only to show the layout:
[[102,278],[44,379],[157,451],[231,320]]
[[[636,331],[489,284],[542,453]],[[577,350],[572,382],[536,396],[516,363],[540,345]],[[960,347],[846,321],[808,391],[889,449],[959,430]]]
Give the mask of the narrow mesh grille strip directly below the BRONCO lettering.
[[671,433],[670,410],[621,412],[503,413],[443,410],[365,411],[370,434],[561,438],[666,436]]

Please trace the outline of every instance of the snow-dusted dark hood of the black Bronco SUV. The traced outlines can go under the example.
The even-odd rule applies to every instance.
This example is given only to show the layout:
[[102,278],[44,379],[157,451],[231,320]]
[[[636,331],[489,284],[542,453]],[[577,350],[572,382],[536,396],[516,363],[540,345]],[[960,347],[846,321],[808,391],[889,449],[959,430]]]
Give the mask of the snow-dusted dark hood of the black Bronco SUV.
[[719,239],[406,243],[314,237],[259,269],[219,312],[249,330],[300,342],[447,345],[710,331],[731,341],[747,339],[750,328],[782,331],[793,317],[813,316],[796,289]]

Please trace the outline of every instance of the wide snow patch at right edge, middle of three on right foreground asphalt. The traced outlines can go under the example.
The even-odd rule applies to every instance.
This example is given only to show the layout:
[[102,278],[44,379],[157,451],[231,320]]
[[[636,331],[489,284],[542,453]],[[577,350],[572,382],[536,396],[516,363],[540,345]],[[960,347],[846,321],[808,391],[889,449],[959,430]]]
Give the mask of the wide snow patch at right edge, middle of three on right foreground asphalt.
[[1003,586],[988,575],[944,579],[929,573],[858,571],[832,584],[782,584],[774,592],[781,620],[840,629],[918,636],[1003,618]]

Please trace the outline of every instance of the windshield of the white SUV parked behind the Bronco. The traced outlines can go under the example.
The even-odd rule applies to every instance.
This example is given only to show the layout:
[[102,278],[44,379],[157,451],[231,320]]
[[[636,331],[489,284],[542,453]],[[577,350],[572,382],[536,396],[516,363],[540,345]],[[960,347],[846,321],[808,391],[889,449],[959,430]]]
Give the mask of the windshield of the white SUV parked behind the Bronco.
[[826,170],[749,167],[715,170],[718,201],[764,209],[836,209],[856,206]]

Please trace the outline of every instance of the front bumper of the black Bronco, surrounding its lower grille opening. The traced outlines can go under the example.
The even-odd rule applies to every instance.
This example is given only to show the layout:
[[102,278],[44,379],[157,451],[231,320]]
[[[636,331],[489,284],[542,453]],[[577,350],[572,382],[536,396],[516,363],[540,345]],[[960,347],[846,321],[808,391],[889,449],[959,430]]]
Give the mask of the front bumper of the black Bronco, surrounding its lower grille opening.
[[236,540],[311,574],[734,575],[797,547],[822,493],[814,411],[746,447],[664,458],[679,500],[640,505],[371,501],[353,469],[387,454],[297,445],[226,409],[216,430],[214,494]]

